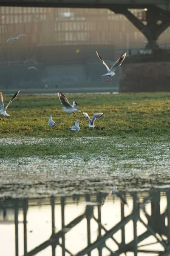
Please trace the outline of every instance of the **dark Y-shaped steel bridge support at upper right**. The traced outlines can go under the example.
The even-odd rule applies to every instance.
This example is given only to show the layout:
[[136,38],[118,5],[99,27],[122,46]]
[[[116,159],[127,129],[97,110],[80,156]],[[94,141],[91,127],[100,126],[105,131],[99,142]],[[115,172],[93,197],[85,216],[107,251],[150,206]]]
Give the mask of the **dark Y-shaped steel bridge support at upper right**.
[[169,13],[154,6],[141,12],[140,17],[133,15],[127,8],[113,7],[111,11],[125,15],[125,17],[144,34],[147,38],[146,49],[159,49],[156,41],[161,33],[170,26]]

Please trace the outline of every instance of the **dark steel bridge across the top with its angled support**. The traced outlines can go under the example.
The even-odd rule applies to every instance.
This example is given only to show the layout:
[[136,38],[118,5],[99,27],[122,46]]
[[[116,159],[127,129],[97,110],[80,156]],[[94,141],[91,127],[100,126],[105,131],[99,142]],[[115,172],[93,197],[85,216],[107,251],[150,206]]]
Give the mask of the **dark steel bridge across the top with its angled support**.
[[[146,49],[159,49],[156,41],[170,26],[170,0],[0,0],[0,6],[110,9],[125,15],[144,34]],[[142,9],[140,17],[129,9]]]

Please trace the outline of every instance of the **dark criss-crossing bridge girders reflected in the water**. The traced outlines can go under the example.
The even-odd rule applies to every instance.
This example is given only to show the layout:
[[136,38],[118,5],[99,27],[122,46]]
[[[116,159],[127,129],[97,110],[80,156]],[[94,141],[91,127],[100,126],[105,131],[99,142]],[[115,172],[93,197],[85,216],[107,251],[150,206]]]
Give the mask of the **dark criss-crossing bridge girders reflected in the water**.
[[[65,204],[66,198],[61,197],[60,204],[61,204],[61,225],[62,229],[58,232],[55,232],[55,202],[56,199],[51,197],[51,236],[48,240],[44,241],[42,244],[39,244],[33,250],[27,250],[27,211],[29,200],[14,200],[14,201],[2,201],[0,202],[0,209],[3,209],[4,216],[6,215],[6,209],[11,207],[14,209],[14,223],[15,223],[15,255],[19,255],[19,241],[18,241],[18,211],[19,208],[23,209],[23,227],[24,227],[24,256],[32,256],[36,255],[37,253],[41,252],[48,246],[52,248],[52,256],[56,256],[56,247],[59,246],[62,248],[62,256],[67,255],[71,256],[83,256],[88,255],[91,256],[91,251],[94,249],[98,250],[98,255],[102,256],[102,249],[106,248],[110,253],[108,256],[111,255],[121,255],[122,253],[126,255],[127,252],[133,252],[135,256],[137,253],[156,253],[159,256],[168,256],[170,255],[170,192],[166,192],[165,196],[167,199],[167,206],[163,213],[161,213],[160,209],[160,198],[161,192],[148,192],[147,197],[144,198],[142,203],[139,203],[139,195],[138,192],[130,193],[131,200],[133,201],[133,210],[125,217],[125,207],[123,204],[120,203],[121,207],[121,221],[114,225],[111,229],[107,230],[102,224],[102,215],[101,215],[101,205],[103,202],[103,198],[105,195],[98,194],[96,195],[96,204],[91,202],[91,196],[86,195],[85,201],[88,202],[85,207],[85,211],[82,212],[78,217],[74,218],[70,223],[65,225]],[[94,198],[94,196],[93,196]],[[75,199],[75,197],[74,197]],[[150,201],[151,207],[151,215],[149,215],[146,211],[146,204],[148,203],[148,199]],[[9,203],[10,202],[10,203]],[[112,202],[113,203],[113,202]],[[96,218],[94,215],[94,207],[97,207],[98,217]],[[103,205],[102,207],[107,207],[107,205]],[[147,218],[147,221],[144,221],[141,217],[141,212]],[[165,218],[167,218],[167,225],[165,225]],[[65,246],[65,234],[71,232],[72,228],[77,226],[83,219],[87,221],[87,246],[73,254],[68,248]],[[91,242],[91,220],[94,220],[97,223],[98,227],[98,236],[96,241]],[[133,240],[125,243],[125,225],[128,224],[130,221],[133,221]],[[146,228],[142,234],[137,236],[137,222],[140,222]],[[121,242],[118,242],[113,235],[116,232],[121,230]],[[102,231],[104,231],[104,235],[102,235]],[[155,244],[160,244],[163,250],[147,250],[141,249],[141,247],[149,245],[147,240],[145,239],[153,236],[156,239]],[[112,248],[108,247],[106,244],[107,239],[112,239],[113,242],[117,245],[118,250],[113,250]],[[62,242],[59,242],[59,239],[62,239]],[[141,243],[144,243],[141,245]],[[154,247],[153,247],[154,248]]]

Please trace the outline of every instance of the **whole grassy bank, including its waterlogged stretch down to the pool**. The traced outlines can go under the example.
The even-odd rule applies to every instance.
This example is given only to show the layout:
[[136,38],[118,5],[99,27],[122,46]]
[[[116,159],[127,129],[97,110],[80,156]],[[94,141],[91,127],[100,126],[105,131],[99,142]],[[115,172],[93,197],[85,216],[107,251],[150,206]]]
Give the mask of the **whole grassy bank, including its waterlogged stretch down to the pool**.
[[[10,98],[4,96],[5,105]],[[52,183],[49,191],[54,192],[55,187],[56,193],[65,192],[64,180],[69,181],[69,193],[74,193],[77,186],[83,192],[83,184],[86,184],[84,191],[91,191],[96,180],[97,191],[104,191],[108,183],[115,182],[119,188],[169,184],[170,93],[67,95],[67,98],[69,102],[76,100],[78,109],[90,116],[104,113],[96,120],[94,130],[88,128],[82,113],[77,113],[80,131],[77,134],[68,131],[77,119],[60,109],[58,96],[19,94],[8,107],[11,116],[0,120],[2,197],[11,196],[8,183],[16,196],[23,195],[18,192],[18,183],[26,185],[26,195],[26,188],[33,186],[37,196],[40,180],[42,184]],[[54,128],[48,127],[49,115],[57,122]],[[39,184],[36,189],[35,181]],[[61,182],[64,190],[60,189]],[[40,195],[49,191],[43,190]]]

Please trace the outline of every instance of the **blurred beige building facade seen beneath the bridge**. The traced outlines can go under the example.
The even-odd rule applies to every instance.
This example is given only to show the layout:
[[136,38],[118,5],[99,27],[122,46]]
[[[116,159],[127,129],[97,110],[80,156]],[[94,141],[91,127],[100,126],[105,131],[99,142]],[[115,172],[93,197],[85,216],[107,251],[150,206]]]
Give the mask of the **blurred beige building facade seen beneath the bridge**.
[[[140,15],[141,10],[132,10]],[[168,32],[167,32],[168,31]],[[17,44],[6,40],[26,34]],[[160,37],[169,41],[170,29]],[[24,44],[23,44],[24,42]],[[37,47],[73,45],[113,45],[114,49],[143,48],[144,35],[126,17],[108,9],[0,7],[0,58],[10,61],[23,49],[20,59],[34,58]],[[16,54],[17,55],[17,54]]]

